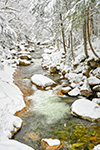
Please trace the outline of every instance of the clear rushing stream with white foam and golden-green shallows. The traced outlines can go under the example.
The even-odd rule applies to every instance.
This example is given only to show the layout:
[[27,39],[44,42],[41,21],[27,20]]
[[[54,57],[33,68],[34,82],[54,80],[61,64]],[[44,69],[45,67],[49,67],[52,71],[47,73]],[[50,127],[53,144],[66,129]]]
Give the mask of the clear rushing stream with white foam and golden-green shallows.
[[30,78],[37,73],[59,83],[59,75],[51,76],[41,68],[42,53],[43,49],[37,46],[32,53],[33,63],[29,66],[18,66],[15,83],[20,89],[24,87],[24,99],[28,102],[28,107],[23,110],[24,115],[21,112],[18,114],[23,120],[23,126],[13,138],[35,150],[42,150],[43,138],[62,140],[64,144],[60,150],[92,150],[100,143],[100,124],[70,114],[71,104],[77,98],[57,96],[52,90],[31,92],[35,87]]

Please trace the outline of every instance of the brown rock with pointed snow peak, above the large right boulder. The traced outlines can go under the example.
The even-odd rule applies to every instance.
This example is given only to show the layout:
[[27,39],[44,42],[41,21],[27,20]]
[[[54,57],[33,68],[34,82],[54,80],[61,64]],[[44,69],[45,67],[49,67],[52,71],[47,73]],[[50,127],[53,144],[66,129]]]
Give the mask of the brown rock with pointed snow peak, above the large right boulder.
[[84,95],[86,97],[93,95],[93,92],[88,84],[87,78],[85,78],[84,83],[83,83],[82,87],[80,88],[80,92],[82,95]]

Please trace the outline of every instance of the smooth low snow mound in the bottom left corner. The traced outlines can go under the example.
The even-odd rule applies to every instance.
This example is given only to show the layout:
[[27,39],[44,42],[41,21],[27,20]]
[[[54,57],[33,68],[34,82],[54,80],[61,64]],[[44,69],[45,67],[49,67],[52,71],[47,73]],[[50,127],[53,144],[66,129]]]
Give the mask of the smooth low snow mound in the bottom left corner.
[[1,140],[0,150],[34,150],[34,149],[15,140]]

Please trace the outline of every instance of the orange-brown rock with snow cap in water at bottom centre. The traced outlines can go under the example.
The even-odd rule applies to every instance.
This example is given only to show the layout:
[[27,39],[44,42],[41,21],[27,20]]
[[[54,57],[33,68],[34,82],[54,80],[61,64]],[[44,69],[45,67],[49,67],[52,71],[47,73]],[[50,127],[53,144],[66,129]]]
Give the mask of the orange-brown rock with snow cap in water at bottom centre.
[[63,147],[62,141],[59,139],[42,139],[41,140],[41,147],[44,150],[59,150]]

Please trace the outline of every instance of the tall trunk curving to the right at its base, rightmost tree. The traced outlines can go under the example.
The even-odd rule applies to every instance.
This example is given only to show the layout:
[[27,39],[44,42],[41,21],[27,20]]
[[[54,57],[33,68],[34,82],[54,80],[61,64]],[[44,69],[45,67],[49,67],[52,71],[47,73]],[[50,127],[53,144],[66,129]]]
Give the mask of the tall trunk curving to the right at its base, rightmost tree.
[[93,54],[99,58],[99,56],[95,53],[94,49],[93,49],[93,46],[92,46],[92,43],[91,43],[91,40],[90,40],[90,32],[89,32],[89,8],[87,10],[87,34],[88,34],[88,42],[89,42],[89,45],[90,45],[90,48],[93,52]]

